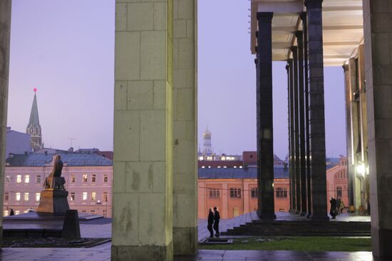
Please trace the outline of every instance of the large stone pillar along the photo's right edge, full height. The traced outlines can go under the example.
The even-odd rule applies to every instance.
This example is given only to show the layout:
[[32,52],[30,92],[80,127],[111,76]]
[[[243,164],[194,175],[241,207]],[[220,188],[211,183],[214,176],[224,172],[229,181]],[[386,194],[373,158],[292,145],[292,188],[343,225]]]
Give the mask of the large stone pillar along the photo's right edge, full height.
[[391,1],[363,1],[373,255],[392,258]]

